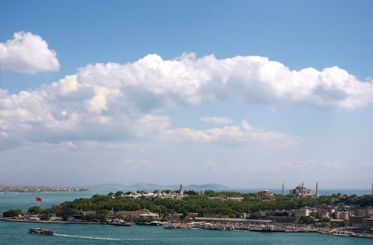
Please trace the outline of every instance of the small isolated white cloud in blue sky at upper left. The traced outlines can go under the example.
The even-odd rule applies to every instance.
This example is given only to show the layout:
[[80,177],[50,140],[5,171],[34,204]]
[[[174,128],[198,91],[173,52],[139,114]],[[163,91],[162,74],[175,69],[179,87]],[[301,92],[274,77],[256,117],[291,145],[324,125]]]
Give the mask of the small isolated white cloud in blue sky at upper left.
[[0,43],[2,69],[21,73],[58,71],[60,64],[54,50],[41,36],[31,32],[15,32],[14,38]]

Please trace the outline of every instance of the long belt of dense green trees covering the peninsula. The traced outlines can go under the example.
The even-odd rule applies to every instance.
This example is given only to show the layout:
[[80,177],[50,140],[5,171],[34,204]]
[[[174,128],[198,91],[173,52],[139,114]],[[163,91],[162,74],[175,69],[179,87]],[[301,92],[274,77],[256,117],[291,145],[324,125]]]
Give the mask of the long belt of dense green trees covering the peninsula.
[[[207,192],[207,193],[206,193]],[[127,200],[120,198],[112,198],[112,193],[109,195],[93,195],[91,198],[76,199],[72,202],[62,202],[59,205],[53,206],[51,209],[44,209],[41,214],[55,214],[68,218],[79,214],[81,211],[96,211],[97,214],[106,214],[107,211],[135,211],[139,209],[149,209],[152,212],[159,213],[161,217],[168,214],[182,213],[186,216],[188,213],[198,213],[198,216],[205,214],[228,215],[239,217],[242,213],[255,212],[259,210],[275,210],[275,209],[298,209],[300,207],[313,207],[327,200],[327,197],[311,198],[293,198],[282,195],[277,195],[276,200],[262,200],[260,194],[242,194],[242,193],[215,193],[214,195],[230,195],[242,196],[243,202],[222,202],[220,200],[210,200],[210,193],[205,192],[205,195],[189,195],[183,200],[170,199],[137,199]]]

